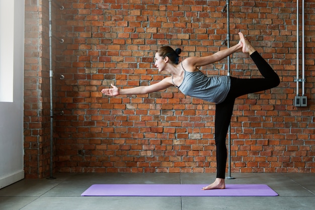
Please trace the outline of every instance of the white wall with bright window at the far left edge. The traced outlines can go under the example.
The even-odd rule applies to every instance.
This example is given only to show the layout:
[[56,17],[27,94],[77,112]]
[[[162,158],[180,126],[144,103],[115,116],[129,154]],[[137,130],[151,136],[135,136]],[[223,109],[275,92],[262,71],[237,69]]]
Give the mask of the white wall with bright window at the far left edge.
[[24,178],[24,5],[0,0],[0,188]]

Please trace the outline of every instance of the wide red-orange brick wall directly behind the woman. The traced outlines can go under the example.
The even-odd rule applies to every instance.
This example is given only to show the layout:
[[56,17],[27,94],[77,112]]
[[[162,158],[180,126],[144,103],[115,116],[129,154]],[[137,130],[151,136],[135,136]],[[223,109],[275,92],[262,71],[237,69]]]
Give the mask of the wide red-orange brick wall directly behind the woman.
[[[153,66],[161,45],[181,48],[183,59],[226,48],[225,1],[58,2],[65,9],[56,12],[57,35],[64,43],[56,50],[55,107],[64,115],[55,117],[55,171],[215,172],[214,104],[175,87],[128,97],[102,96],[100,90],[110,83],[127,88],[168,76]],[[281,79],[277,88],[235,101],[232,172],[315,171],[315,3],[307,0],[305,8],[308,106],[297,108],[296,2],[230,1],[231,45],[241,29]],[[226,63],[201,70],[225,75]],[[259,76],[243,53],[231,56],[231,69],[232,76]]]

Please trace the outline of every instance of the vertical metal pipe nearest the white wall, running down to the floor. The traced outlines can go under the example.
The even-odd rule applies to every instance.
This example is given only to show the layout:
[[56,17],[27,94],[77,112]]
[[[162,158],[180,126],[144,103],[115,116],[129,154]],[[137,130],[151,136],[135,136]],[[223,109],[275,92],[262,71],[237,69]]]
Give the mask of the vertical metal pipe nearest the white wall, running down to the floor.
[[55,179],[52,176],[53,165],[53,104],[52,104],[52,24],[51,24],[51,0],[49,0],[49,81],[50,81],[50,176],[48,179]]

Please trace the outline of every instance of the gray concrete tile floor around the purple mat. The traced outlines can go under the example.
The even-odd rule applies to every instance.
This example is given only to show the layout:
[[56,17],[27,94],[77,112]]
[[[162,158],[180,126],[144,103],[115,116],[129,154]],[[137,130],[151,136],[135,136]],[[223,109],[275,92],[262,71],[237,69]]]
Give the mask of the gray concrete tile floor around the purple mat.
[[83,197],[92,184],[209,184],[207,173],[70,173],[0,189],[0,209],[315,209],[314,173],[234,173],[226,184],[267,184],[271,197]]

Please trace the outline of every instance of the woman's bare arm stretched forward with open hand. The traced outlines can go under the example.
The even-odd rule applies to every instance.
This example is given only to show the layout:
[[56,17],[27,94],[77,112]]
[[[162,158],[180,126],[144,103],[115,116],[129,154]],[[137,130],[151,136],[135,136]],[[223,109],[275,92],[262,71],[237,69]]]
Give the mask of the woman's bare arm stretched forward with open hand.
[[104,88],[101,92],[105,95],[116,96],[116,95],[130,95],[130,94],[147,94],[150,92],[155,92],[159,90],[166,89],[172,86],[170,83],[170,77],[164,78],[160,82],[149,86],[138,86],[126,89],[119,89],[115,85],[111,84],[113,88]]

